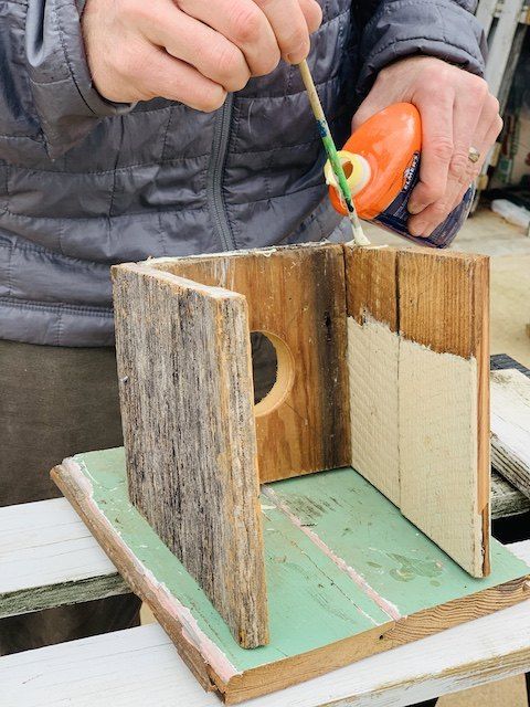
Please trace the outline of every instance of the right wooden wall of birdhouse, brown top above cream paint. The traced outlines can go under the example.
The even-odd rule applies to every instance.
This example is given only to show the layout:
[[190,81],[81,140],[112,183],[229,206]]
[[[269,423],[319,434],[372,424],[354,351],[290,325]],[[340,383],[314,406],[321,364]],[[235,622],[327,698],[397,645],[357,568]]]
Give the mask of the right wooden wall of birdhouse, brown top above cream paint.
[[487,574],[488,260],[348,246],[346,257],[352,465]]

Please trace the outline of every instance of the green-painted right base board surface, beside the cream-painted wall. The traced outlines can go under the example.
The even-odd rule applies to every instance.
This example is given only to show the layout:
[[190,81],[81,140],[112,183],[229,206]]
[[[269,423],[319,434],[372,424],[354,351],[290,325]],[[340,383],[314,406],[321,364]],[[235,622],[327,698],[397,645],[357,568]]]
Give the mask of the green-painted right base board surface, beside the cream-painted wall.
[[[274,484],[276,496],[402,615],[529,572],[496,540],[491,574],[474,579],[351,468]],[[354,532],[344,535],[344,524]]]

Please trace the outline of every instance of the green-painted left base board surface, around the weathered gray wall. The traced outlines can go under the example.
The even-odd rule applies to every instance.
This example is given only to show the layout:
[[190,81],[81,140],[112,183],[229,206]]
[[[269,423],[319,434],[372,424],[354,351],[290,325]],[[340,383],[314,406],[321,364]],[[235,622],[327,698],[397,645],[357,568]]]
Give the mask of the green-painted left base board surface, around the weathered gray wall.
[[240,671],[321,647],[389,618],[268,499],[263,502],[271,643],[241,648],[197,582],[130,505],[121,449],[78,454],[94,500],[136,557]]

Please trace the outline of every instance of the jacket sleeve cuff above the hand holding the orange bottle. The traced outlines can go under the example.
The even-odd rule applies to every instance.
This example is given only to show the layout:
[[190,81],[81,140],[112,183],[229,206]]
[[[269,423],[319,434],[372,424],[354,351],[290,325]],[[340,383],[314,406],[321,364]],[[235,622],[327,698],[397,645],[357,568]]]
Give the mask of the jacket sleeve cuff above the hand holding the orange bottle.
[[361,34],[361,95],[381,68],[412,54],[436,56],[481,76],[487,44],[473,14],[476,4],[476,0],[381,0]]

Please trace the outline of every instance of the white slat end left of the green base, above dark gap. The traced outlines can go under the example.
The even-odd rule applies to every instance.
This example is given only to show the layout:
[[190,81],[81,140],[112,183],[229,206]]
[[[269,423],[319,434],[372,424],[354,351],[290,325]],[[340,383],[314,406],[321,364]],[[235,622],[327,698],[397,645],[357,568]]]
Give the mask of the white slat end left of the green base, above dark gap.
[[0,508],[0,618],[126,591],[64,498]]

